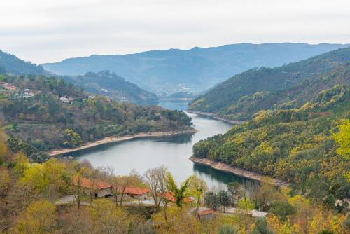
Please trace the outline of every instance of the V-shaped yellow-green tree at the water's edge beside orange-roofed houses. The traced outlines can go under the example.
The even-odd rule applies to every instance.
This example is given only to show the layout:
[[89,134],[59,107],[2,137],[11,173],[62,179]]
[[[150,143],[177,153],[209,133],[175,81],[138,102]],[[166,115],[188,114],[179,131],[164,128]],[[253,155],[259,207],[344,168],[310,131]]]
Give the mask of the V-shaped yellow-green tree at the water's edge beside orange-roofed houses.
[[167,188],[169,192],[174,195],[176,199],[176,205],[182,207],[183,199],[186,198],[188,192],[188,186],[190,186],[190,178],[186,179],[181,185],[177,185],[174,181],[172,173],[168,172],[167,174]]

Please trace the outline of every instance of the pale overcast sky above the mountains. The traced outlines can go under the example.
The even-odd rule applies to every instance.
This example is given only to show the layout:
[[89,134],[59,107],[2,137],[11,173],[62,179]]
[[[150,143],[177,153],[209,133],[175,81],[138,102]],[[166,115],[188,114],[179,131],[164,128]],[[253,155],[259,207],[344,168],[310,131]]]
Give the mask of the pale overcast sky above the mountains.
[[41,64],[232,43],[350,43],[349,0],[1,0],[0,50]]

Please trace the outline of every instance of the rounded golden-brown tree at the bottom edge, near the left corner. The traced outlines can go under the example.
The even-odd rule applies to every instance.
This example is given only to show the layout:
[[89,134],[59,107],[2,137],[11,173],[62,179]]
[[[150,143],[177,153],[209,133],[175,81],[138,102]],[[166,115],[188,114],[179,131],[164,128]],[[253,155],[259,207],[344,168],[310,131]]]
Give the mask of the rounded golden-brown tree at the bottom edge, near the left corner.
[[32,202],[22,212],[14,228],[15,233],[52,233],[56,207],[47,200]]

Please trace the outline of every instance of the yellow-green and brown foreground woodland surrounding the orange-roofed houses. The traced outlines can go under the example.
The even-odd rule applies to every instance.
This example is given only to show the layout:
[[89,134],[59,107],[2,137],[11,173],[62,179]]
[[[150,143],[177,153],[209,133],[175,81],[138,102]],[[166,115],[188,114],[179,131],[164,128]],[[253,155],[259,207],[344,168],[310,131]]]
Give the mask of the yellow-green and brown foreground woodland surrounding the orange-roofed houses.
[[[342,142],[342,136],[339,142]],[[336,138],[337,138],[336,137]],[[144,175],[131,172],[116,175],[113,168],[93,168],[87,162],[57,160],[30,163],[21,151],[14,153],[0,135],[0,233],[337,233],[350,231],[350,216],[343,204],[295,195],[289,188],[276,188],[269,179],[260,186],[228,184],[227,190],[208,191],[204,181],[191,176],[174,181],[166,167],[156,167]],[[340,152],[340,151],[339,151]],[[349,149],[347,149],[349,153]],[[89,178],[113,186],[151,189],[155,205],[130,205],[114,191],[108,198],[94,198],[95,189],[76,185],[73,179]],[[248,193],[246,193],[248,191]],[[158,194],[174,194],[170,202]],[[73,202],[60,198],[73,196]],[[195,201],[186,204],[186,198]],[[200,207],[214,214],[200,219]],[[347,205],[347,204],[346,204]],[[236,207],[235,214],[224,214]],[[269,211],[253,217],[251,209]]]

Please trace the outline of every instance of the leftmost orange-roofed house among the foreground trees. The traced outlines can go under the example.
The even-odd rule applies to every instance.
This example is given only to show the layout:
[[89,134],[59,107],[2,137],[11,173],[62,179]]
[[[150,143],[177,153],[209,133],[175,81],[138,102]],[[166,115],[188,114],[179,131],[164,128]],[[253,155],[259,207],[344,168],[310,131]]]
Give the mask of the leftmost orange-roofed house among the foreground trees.
[[94,181],[87,178],[75,177],[73,178],[73,185],[80,186],[81,188],[88,190],[89,193],[93,191],[95,198],[103,198],[111,195],[112,193],[111,184],[105,183],[103,181]]

